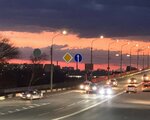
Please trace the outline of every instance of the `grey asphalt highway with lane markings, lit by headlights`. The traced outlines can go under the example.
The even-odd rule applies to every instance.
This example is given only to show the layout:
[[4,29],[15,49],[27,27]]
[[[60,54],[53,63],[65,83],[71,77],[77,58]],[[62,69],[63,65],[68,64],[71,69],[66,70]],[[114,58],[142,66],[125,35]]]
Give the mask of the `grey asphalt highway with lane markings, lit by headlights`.
[[[134,75],[139,84],[142,75]],[[0,101],[0,120],[150,120],[150,92],[139,86],[138,93],[125,93],[127,79],[110,96],[70,90],[40,100],[6,99]]]

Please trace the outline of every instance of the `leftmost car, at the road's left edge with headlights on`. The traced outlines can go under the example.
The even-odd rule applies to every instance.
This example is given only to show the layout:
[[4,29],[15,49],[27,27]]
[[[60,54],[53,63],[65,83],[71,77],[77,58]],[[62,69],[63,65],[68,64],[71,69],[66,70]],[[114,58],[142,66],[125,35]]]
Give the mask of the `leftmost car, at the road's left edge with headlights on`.
[[22,92],[20,94],[20,97],[26,100],[40,99],[43,98],[43,93],[39,90],[30,90],[30,91]]

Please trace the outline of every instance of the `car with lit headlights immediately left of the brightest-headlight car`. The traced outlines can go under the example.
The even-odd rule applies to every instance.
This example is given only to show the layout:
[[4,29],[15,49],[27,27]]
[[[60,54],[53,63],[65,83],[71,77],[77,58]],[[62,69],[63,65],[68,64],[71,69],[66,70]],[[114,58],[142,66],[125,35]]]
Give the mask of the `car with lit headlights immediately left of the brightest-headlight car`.
[[91,83],[85,87],[86,93],[97,93],[98,85],[96,83]]

